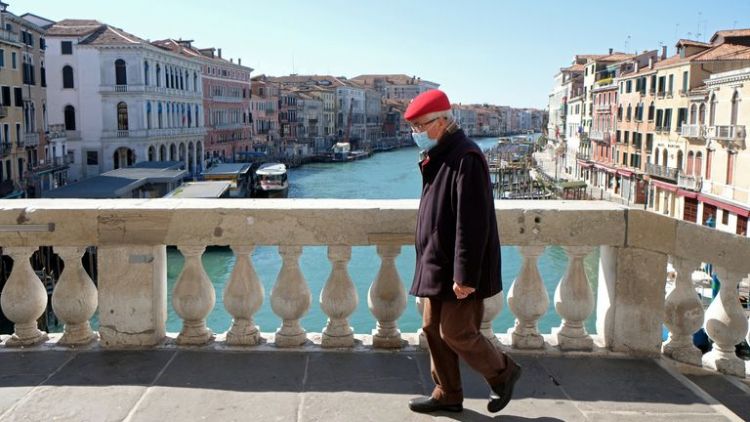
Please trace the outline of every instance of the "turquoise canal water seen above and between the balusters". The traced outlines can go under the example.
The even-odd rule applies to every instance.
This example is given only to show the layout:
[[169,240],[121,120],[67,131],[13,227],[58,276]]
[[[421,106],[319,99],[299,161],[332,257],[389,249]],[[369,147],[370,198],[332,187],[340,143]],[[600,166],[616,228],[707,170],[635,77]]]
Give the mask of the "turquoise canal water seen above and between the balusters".
[[[479,139],[477,143],[484,149],[496,145],[496,138]],[[421,180],[417,167],[417,149],[403,148],[390,152],[375,154],[373,157],[349,163],[316,163],[292,169],[289,172],[291,183],[289,196],[294,198],[356,198],[356,199],[404,199],[419,198]],[[502,239],[501,239],[502,242]],[[276,247],[258,246],[252,255],[256,272],[265,288],[263,306],[255,315],[256,324],[261,331],[272,332],[281,321],[271,311],[270,293],[281,269],[281,257]],[[397,268],[407,290],[414,275],[415,253],[413,246],[404,246],[397,258]],[[596,288],[597,253],[587,257],[587,273]],[[169,315],[167,330],[178,332],[181,321],[172,307],[171,292],[184,264],[182,255],[174,248],[168,249],[168,282],[169,282]],[[229,274],[234,265],[234,256],[230,250],[212,249],[203,255],[203,264],[216,289],[216,306],[208,317],[208,326],[215,332],[226,331],[231,324],[231,316],[224,309],[222,294]],[[370,333],[375,327],[375,320],[367,307],[367,290],[377,275],[380,265],[375,247],[354,247],[349,263],[349,273],[357,287],[359,304],[349,321],[356,333]],[[504,290],[510,288],[518,274],[521,257],[515,247],[502,249],[502,278]],[[326,324],[326,316],[320,308],[319,297],[323,285],[331,271],[325,247],[305,247],[300,258],[305,279],[313,295],[313,303],[302,320],[308,331],[320,332]],[[555,313],[553,297],[555,287],[567,266],[567,257],[560,247],[548,247],[539,260],[539,267],[547,291],[550,295],[550,308],[540,320],[542,332],[548,333],[551,327],[558,326],[560,319]],[[505,332],[513,325],[513,315],[507,308],[495,321],[497,332]],[[593,317],[589,319],[589,329],[593,329]],[[414,298],[409,298],[409,306],[399,320],[402,331],[414,332],[420,326],[420,317],[414,305]]]

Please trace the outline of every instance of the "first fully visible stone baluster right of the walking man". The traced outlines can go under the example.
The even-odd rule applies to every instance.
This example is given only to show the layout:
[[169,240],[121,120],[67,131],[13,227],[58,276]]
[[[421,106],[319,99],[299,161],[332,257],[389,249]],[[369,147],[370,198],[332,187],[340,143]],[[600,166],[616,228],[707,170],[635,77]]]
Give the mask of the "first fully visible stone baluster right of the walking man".
[[516,323],[508,334],[515,348],[541,349],[544,337],[539,333],[538,321],[547,312],[549,296],[539,275],[537,260],[545,246],[520,246],[518,249],[523,263],[508,291],[508,307],[516,316]]

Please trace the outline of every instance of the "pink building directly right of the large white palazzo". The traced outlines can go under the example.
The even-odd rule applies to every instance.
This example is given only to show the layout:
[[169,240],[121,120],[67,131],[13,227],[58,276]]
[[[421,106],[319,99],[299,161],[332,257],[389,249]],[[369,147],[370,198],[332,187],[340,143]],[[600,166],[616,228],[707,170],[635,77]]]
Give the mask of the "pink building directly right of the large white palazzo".
[[238,153],[250,150],[252,122],[250,111],[252,68],[242,60],[225,59],[221,48],[197,48],[191,40],[166,39],[154,45],[196,59],[201,63],[205,136],[204,159],[221,157],[237,160]]

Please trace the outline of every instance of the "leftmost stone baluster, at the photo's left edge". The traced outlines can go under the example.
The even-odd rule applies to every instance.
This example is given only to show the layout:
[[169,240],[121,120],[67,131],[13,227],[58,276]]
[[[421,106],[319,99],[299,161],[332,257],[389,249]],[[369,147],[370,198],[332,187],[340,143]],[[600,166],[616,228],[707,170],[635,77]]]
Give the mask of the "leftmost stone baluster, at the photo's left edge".
[[5,342],[8,347],[33,346],[47,340],[47,333],[37,328],[37,319],[47,309],[47,289],[29,261],[36,250],[29,246],[5,248],[5,253],[13,259],[13,271],[0,295],[3,313],[15,328],[13,336]]

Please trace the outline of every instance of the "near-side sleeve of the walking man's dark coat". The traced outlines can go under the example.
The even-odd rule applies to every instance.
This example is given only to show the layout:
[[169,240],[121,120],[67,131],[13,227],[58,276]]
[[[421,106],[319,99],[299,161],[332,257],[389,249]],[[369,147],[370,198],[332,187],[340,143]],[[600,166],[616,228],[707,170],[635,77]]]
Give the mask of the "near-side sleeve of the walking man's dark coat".
[[461,159],[456,178],[456,249],[453,281],[477,287],[489,238],[490,213],[495,205],[490,194],[484,157],[476,153]]

